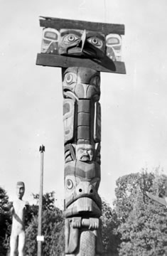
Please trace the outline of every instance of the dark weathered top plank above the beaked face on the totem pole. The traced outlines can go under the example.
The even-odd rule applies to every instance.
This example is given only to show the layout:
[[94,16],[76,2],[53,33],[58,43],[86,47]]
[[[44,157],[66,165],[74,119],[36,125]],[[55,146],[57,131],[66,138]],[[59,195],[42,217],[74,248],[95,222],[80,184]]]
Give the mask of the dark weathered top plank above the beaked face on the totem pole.
[[109,24],[109,23],[99,23],[90,21],[77,21],[70,20],[66,18],[52,18],[40,16],[40,26],[45,28],[74,28],[83,29],[89,31],[98,31],[107,35],[109,33],[117,33],[119,35],[124,35],[124,24]]

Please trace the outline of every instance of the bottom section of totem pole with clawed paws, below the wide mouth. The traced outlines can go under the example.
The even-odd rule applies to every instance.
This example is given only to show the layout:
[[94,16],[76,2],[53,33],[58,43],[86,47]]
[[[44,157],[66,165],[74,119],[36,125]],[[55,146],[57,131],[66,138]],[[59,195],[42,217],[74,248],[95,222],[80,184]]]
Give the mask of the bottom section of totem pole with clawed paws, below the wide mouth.
[[102,255],[102,249],[98,218],[76,217],[65,220],[65,255],[98,256]]

